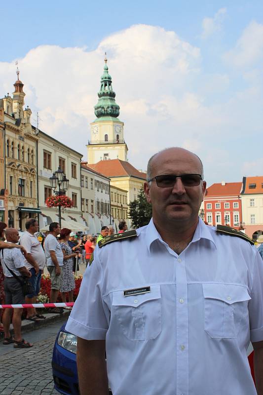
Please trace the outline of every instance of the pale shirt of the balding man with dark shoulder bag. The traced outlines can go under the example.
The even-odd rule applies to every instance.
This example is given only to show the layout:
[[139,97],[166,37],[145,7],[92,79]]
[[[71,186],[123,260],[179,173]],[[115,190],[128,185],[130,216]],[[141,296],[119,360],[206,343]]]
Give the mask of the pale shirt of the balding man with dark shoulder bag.
[[[16,276],[22,276],[18,269],[23,268],[25,264],[24,255],[22,254],[20,248],[3,248],[0,251],[0,259],[5,277],[13,277],[9,270],[6,269],[6,266],[11,269],[11,271],[14,272]],[[5,264],[3,263],[3,260]]]

